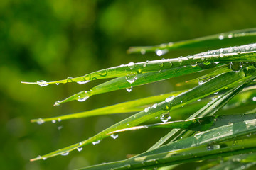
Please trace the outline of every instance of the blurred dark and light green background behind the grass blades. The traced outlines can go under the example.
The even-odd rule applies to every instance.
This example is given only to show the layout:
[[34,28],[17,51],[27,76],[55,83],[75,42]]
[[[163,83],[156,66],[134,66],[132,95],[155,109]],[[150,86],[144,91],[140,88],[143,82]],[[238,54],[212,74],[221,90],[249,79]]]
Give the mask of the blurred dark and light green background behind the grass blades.
[[[127,55],[129,46],[156,45],[256,26],[256,1],[0,1],[0,169],[75,169],[125,159],[154,144],[166,130],[142,130],[107,138],[81,152],[29,162],[85,140],[129,116],[30,123],[86,111],[136,98],[178,90],[186,77],[92,96],[87,101],[53,107],[57,100],[88,90],[89,84],[46,87],[21,81],[53,81],[78,77],[129,62],[189,55],[189,51]],[[195,51],[194,51],[195,52]]]

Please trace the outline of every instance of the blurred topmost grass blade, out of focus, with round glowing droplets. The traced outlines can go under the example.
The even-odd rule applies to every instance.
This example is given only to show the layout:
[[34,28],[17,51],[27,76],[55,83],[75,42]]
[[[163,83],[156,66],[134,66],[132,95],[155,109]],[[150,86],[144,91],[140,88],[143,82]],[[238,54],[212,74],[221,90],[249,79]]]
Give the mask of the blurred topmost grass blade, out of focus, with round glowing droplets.
[[[146,52],[156,52],[156,55],[164,55],[169,50],[181,49],[186,47],[209,47],[216,45],[225,45],[228,41],[233,42],[236,40],[240,42],[241,38],[245,40],[253,40],[255,42],[256,28],[245,30],[235,30],[227,33],[220,33],[215,35],[208,35],[206,37],[194,38],[191,40],[183,40],[178,42],[169,42],[166,44],[144,47],[129,47],[127,53],[141,53],[144,55]],[[225,41],[228,40],[228,41]]]

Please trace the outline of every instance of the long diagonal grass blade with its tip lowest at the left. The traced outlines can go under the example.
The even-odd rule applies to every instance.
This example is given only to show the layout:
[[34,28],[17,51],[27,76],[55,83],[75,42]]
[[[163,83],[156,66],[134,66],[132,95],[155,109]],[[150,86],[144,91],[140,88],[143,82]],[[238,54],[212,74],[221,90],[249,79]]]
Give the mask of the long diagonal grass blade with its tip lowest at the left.
[[[234,84],[235,82],[246,81],[247,79],[250,79],[252,75],[255,76],[256,74],[255,69],[251,70],[250,68],[248,68],[247,72],[248,73],[246,74],[246,77],[245,77],[245,72],[243,72],[243,70],[241,70],[240,72],[227,72],[224,74],[220,74],[218,77],[210,79],[205,84],[198,85],[193,89],[184,92],[183,94],[179,94],[176,97],[171,96],[171,100],[169,100],[168,98],[167,101],[158,103],[156,108],[151,107],[150,109],[146,109],[144,111],[136,113],[135,115],[130,116],[129,118],[126,118],[120,121],[119,123],[112,125],[110,128],[103,130],[102,132],[98,133],[94,137],[89,138],[88,140],[84,140],[80,143],[70,145],[69,147],[59,149],[49,154],[45,154],[42,157],[31,159],[31,161],[35,161],[38,159],[46,159],[48,157],[54,157],[60,154],[65,154],[67,152],[73,151],[74,149],[77,149],[78,147],[83,147],[92,142],[102,140],[103,138],[108,137],[107,134],[114,130],[129,128],[135,125],[139,125],[141,123],[146,122],[146,120],[150,120],[151,118],[159,116],[163,113],[168,113],[174,108],[184,106],[188,103],[196,101],[198,98],[203,98],[205,96],[212,94],[215,91],[224,89],[226,86],[232,86],[232,84]],[[219,81],[216,81],[216,80],[219,80]]]

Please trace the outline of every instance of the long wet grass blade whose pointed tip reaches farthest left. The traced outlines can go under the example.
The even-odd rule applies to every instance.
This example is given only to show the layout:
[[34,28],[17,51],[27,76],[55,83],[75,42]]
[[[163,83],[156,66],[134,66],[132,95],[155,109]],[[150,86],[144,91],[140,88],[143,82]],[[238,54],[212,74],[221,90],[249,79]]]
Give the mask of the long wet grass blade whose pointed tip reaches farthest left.
[[[210,62],[255,62],[256,61],[256,44],[242,45],[238,47],[228,47],[219,50],[211,50],[208,52],[201,52],[196,55],[189,55],[186,57],[179,57],[175,59],[154,60],[147,62],[129,63],[118,67],[111,67],[108,69],[102,69],[97,72],[85,74],[82,77],[69,77],[68,79],[60,81],[37,81],[37,82],[21,82],[24,84],[38,84],[41,86],[47,86],[48,84],[65,84],[68,82],[78,82],[79,84],[87,83],[95,79],[107,79],[114,77],[135,77],[137,74],[147,72],[159,72],[159,70],[177,68],[181,66],[192,65],[197,67],[197,63],[204,62],[206,68],[211,68],[215,64]],[[204,67],[201,64],[201,67]]]

